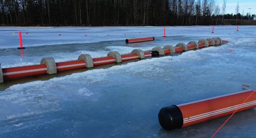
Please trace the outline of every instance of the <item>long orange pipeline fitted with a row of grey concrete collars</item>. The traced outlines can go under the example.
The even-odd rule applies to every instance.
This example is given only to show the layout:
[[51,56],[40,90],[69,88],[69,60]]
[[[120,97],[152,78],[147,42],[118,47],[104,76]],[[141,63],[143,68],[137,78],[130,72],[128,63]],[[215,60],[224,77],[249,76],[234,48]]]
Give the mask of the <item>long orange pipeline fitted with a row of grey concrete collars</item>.
[[40,65],[11,67],[3,69],[0,65],[0,83],[3,83],[4,80],[10,80],[13,78],[21,78],[40,74],[55,74],[59,71],[79,68],[91,68],[94,66],[106,65],[111,63],[121,63],[124,61],[132,61],[152,56],[167,55],[177,52],[183,52],[186,50],[208,47],[210,45],[220,45],[224,43],[228,43],[228,41],[224,41],[221,40],[219,37],[215,37],[207,38],[207,40],[200,40],[198,43],[189,42],[188,45],[180,43],[176,47],[173,47],[171,45],[167,45],[164,48],[155,47],[150,51],[134,49],[131,53],[123,55],[119,54],[116,51],[110,51],[106,57],[99,58],[92,58],[89,54],[81,54],[76,61],[55,63],[54,58],[46,57],[42,58]]

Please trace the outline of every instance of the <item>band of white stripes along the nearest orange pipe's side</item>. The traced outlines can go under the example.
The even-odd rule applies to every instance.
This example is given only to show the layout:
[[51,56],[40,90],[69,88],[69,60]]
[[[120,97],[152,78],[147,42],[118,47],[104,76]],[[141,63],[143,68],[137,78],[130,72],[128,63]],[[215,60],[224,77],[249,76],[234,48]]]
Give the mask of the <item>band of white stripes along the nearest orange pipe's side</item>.
[[[252,106],[252,105],[256,105],[256,101],[248,102],[248,103],[242,105],[239,109],[242,109],[242,108],[244,108],[244,107],[249,107],[249,106]],[[207,117],[211,117],[211,116],[214,116],[214,115],[218,115],[218,114],[230,112],[230,111],[232,111],[232,110],[236,110],[239,106],[240,106],[240,105],[238,105],[238,106],[233,106],[232,108],[230,108],[230,107],[228,107],[228,108],[223,108],[223,109],[221,109],[221,110],[219,110],[219,111],[216,110],[216,111],[212,111],[212,112],[207,112],[206,114],[204,113],[204,115],[201,115],[201,114],[200,114],[200,116],[196,115],[196,116],[198,116],[198,117],[191,116],[191,117],[189,117],[189,118],[185,118],[185,119],[184,119],[184,124],[189,123],[189,122],[194,122],[194,121],[197,121],[197,120],[201,120],[201,119],[205,119],[205,118],[207,118]]]

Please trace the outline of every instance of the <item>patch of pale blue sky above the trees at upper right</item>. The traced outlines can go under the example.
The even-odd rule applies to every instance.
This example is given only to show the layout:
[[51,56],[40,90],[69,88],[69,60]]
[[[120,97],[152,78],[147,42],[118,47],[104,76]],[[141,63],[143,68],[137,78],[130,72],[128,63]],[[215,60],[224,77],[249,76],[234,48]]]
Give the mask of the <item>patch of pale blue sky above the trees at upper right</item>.
[[[226,13],[235,13],[235,7],[237,2],[239,3],[239,11],[241,14],[243,13],[243,11],[244,14],[249,12],[250,10],[248,8],[251,8],[251,14],[256,14],[256,0],[227,0]],[[223,0],[217,0],[216,3],[219,5],[221,9]]]

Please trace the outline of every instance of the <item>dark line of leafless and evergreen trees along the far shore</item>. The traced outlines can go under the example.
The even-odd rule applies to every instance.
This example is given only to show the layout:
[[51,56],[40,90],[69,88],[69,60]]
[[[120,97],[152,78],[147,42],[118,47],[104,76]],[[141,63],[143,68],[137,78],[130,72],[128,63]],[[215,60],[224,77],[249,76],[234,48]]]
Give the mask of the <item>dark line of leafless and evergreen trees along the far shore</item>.
[[[252,19],[214,0],[0,0],[1,26],[179,26]],[[218,22],[222,20],[222,22]]]

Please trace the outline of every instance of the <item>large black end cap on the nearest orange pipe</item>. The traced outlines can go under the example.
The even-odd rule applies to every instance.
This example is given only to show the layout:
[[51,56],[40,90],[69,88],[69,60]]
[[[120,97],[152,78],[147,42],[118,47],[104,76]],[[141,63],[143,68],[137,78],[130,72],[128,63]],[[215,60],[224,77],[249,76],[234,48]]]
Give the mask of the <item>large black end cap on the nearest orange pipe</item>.
[[165,130],[182,128],[182,112],[180,108],[175,105],[163,107],[158,113],[158,121]]

